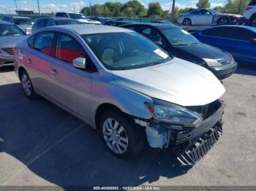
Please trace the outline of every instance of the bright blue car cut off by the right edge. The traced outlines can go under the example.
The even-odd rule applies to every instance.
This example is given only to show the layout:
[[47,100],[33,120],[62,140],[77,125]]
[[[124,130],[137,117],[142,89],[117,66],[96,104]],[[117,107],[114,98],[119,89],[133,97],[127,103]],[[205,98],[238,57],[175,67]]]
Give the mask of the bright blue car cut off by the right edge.
[[256,64],[256,28],[216,26],[193,34],[200,42],[230,52],[239,63]]

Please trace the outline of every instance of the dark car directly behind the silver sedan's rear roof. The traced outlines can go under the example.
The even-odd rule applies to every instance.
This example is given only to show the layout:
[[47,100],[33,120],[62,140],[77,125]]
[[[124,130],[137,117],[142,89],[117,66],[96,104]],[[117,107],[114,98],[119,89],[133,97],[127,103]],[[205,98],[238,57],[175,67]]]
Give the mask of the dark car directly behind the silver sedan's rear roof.
[[79,22],[77,20],[67,17],[40,17],[34,23],[34,26],[32,27],[32,32],[47,26],[64,26],[75,24],[79,24]]

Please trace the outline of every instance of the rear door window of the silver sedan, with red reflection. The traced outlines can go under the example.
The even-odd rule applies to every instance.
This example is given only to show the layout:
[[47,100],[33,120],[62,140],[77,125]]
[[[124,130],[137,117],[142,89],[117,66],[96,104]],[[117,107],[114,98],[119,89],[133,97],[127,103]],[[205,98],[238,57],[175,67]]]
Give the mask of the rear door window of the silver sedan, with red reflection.
[[34,49],[46,55],[53,55],[54,32],[42,32],[34,39]]

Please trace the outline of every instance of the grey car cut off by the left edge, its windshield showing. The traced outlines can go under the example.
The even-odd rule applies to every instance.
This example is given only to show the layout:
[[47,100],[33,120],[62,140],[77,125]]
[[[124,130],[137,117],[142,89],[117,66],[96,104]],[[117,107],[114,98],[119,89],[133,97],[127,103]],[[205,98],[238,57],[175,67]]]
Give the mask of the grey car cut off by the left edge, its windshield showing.
[[26,34],[12,23],[0,21],[0,68],[13,66],[12,49],[18,42],[22,42]]

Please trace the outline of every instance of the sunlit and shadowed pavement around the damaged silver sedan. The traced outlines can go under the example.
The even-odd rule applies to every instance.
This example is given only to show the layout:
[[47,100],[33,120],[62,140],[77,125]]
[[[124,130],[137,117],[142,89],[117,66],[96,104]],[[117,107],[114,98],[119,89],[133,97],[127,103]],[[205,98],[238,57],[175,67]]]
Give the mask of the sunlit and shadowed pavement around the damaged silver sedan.
[[147,148],[120,160],[97,130],[44,98],[23,95],[11,68],[0,69],[0,185],[256,185],[256,69],[224,80],[223,136],[192,168]]

